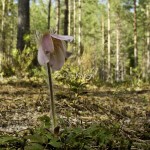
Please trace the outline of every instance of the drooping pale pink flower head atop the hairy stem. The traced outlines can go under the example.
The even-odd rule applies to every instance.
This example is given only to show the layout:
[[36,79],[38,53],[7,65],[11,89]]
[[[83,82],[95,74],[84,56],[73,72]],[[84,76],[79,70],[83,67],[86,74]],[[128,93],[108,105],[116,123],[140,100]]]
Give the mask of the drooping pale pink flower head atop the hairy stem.
[[46,65],[48,62],[52,70],[59,70],[63,66],[65,59],[70,55],[67,52],[65,41],[71,42],[72,36],[45,33],[39,40],[38,62]]

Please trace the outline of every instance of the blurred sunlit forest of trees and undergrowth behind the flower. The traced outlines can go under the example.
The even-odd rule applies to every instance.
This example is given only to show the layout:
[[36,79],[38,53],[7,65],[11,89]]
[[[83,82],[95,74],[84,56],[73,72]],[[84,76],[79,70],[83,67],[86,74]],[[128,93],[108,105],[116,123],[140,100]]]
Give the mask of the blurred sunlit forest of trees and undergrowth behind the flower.
[[35,33],[50,29],[74,36],[66,66],[93,81],[150,80],[149,0],[1,0],[0,8],[4,76],[16,75],[16,69],[33,75]]

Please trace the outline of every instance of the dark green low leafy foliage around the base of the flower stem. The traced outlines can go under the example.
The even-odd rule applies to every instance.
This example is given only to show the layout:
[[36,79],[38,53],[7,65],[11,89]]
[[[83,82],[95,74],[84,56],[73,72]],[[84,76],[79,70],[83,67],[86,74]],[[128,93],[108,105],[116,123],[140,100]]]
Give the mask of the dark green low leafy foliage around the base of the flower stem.
[[4,148],[22,148],[25,150],[42,149],[128,149],[131,142],[121,135],[117,125],[93,124],[82,128],[65,128],[58,135],[54,135],[47,125],[50,119],[47,116],[40,118],[41,126],[24,133],[22,136],[3,135],[0,146]]

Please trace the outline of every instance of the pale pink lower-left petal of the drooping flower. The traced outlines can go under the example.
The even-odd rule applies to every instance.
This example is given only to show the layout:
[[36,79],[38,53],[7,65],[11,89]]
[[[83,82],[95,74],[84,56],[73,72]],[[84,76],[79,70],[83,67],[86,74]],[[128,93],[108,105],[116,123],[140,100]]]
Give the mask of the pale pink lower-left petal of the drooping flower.
[[49,62],[47,55],[44,53],[42,47],[38,48],[38,62],[40,65],[45,65]]

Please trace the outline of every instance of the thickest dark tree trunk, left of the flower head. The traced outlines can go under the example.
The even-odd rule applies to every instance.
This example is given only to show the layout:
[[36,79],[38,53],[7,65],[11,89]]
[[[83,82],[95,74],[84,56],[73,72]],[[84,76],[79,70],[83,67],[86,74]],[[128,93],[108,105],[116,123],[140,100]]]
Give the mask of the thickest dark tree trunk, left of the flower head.
[[30,11],[29,0],[18,1],[18,34],[17,34],[17,49],[23,51],[25,46],[29,46],[29,39],[25,37],[30,31]]

